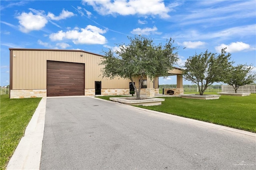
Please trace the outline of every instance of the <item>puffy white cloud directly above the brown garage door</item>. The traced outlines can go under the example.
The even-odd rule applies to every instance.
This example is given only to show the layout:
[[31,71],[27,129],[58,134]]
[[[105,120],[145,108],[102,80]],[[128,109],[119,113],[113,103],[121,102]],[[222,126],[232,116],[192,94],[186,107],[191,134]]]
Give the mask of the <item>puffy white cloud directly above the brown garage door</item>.
[[106,38],[101,34],[106,33],[96,26],[88,25],[86,28],[70,30],[67,32],[58,31],[50,34],[49,38],[52,41],[62,41],[63,39],[72,40],[74,44],[105,44]]

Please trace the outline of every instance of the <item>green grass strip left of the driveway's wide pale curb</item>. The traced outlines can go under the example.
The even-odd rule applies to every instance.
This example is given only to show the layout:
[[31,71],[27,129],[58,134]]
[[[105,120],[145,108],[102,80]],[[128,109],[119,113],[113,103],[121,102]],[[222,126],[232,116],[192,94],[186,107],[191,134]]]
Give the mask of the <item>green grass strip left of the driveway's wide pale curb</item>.
[[42,98],[9,99],[0,97],[0,169],[7,163],[24,135],[25,129]]

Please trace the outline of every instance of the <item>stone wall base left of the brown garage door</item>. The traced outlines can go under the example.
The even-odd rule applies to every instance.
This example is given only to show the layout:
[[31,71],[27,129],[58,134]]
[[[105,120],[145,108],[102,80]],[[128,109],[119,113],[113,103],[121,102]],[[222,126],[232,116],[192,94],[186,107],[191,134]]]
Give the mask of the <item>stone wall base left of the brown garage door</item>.
[[46,89],[10,90],[10,99],[46,97]]

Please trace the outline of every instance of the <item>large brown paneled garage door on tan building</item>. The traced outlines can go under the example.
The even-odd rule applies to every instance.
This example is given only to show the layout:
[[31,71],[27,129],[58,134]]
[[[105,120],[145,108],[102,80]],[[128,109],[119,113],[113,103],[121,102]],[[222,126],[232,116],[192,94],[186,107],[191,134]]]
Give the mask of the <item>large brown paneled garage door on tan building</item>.
[[47,96],[84,95],[84,63],[47,61]]

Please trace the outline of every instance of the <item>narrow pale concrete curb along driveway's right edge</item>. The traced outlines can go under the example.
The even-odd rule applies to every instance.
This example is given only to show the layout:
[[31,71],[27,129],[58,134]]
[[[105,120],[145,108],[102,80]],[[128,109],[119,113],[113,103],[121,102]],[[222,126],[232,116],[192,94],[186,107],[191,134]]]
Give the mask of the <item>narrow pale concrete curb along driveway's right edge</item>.
[[[104,100],[104,99],[100,99],[100,98],[97,98],[97,97],[94,97],[94,98],[98,99],[98,100]],[[104,100],[104,101],[107,101],[107,100]],[[113,102],[113,101],[107,101],[107,102],[116,103],[116,102]],[[236,128],[225,127],[225,126],[222,126],[222,125],[216,125],[216,124],[208,123],[208,122],[204,122],[204,121],[198,121],[198,120],[190,119],[190,118],[186,118],[186,117],[180,117],[180,116],[176,116],[176,115],[171,115],[171,114],[168,114],[168,113],[152,111],[152,110],[143,109],[143,108],[140,108],[140,107],[134,107],[134,106],[130,106],[130,105],[125,105],[125,104],[122,104],[122,103],[116,103],[116,104],[123,105],[123,106],[126,106],[126,107],[132,107],[134,109],[138,109],[138,110],[142,110],[142,111],[146,111],[146,112],[160,114],[160,115],[172,118],[172,119],[178,119],[178,120],[186,121],[186,122],[189,122],[189,123],[195,123],[197,125],[202,125],[202,126],[206,126],[206,127],[215,128],[217,130],[225,130],[225,131],[229,131],[229,132],[234,132],[234,133],[237,133],[237,134],[242,134],[242,135],[245,135],[245,136],[248,136],[248,137],[256,139],[256,133],[253,133],[253,132],[248,132],[248,131],[240,130],[240,129],[236,129]]]

